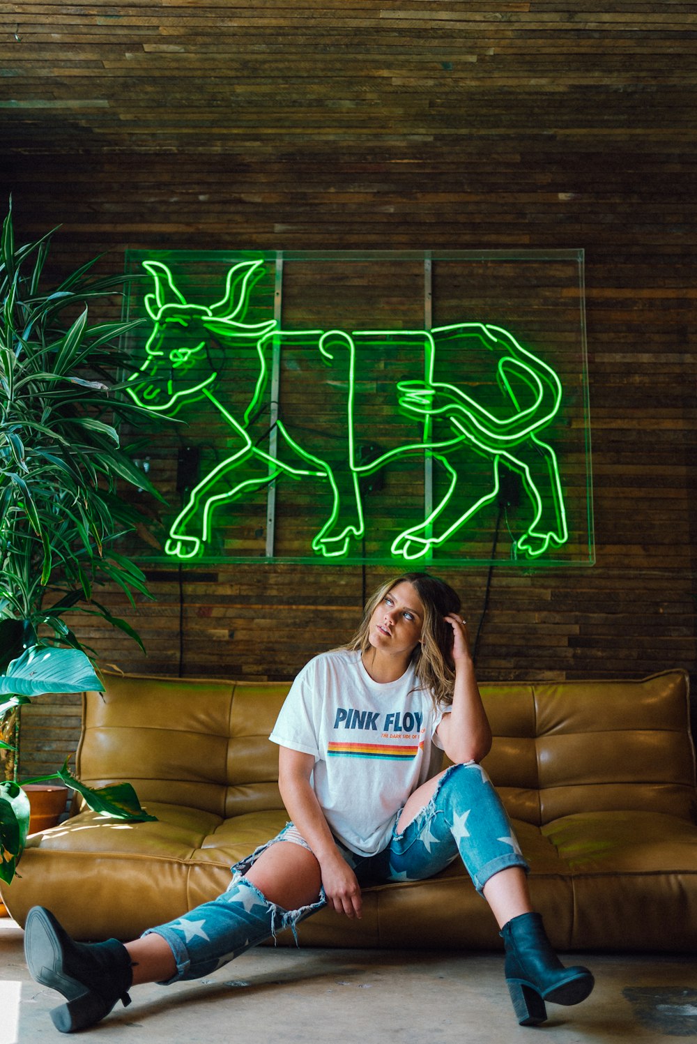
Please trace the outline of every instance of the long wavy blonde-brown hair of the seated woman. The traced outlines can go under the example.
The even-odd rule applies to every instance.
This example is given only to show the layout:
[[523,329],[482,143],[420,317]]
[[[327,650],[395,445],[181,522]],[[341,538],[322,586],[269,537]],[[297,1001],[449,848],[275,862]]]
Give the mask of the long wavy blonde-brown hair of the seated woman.
[[429,573],[404,573],[387,580],[368,598],[356,634],[341,647],[360,651],[361,655],[370,647],[370,617],[385,595],[405,580],[411,584],[424,607],[422,637],[411,658],[419,688],[426,689],[436,707],[439,704],[452,704],[455,686],[455,665],[451,656],[453,628],[450,623],[446,623],[444,617],[449,613],[459,614],[461,602],[457,592],[437,576]]

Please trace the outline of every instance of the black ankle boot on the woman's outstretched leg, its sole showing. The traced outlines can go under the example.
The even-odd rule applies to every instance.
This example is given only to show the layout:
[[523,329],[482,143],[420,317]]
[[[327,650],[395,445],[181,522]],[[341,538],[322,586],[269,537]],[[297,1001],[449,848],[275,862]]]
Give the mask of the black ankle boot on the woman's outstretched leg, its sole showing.
[[38,982],[57,990],[68,1001],[51,1012],[62,1034],[99,1022],[119,999],[124,1007],[130,1003],[130,956],[118,940],[75,943],[43,906],[29,910],[24,931],[29,971]]

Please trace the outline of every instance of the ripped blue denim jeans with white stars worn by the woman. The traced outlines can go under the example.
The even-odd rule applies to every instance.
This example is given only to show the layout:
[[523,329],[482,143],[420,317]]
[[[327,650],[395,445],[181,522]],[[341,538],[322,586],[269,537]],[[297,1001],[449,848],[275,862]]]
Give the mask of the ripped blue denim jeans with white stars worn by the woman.
[[[399,815],[396,817],[399,822]],[[327,904],[323,889],[317,902],[287,910],[269,902],[244,874],[269,846],[292,841],[310,846],[292,823],[233,868],[227,889],[176,921],[150,928],[169,944],[176,975],[194,979],[210,975],[250,947],[295,926]],[[486,881],[508,867],[527,872],[519,844],[501,799],[480,765],[452,765],[438,781],[426,805],[389,845],[376,855],[362,856],[336,843],[361,886],[384,881],[418,881],[444,870],[458,856],[481,894]]]

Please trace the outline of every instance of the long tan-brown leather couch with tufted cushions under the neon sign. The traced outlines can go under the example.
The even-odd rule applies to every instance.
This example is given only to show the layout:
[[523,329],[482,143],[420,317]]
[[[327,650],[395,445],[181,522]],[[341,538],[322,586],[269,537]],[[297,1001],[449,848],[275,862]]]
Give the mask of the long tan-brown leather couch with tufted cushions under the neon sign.
[[[211,899],[230,864],[286,822],[267,739],[288,684],[110,677],[85,694],[77,773],[130,780],[157,823],[82,811],[33,835],[11,916],[50,907],[81,939],[130,939]],[[482,685],[495,741],[484,764],[531,865],[560,950],[697,949],[697,791],[688,678]],[[364,916],[322,910],[318,946],[496,948],[459,865],[365,889]],[[287,936],[287,938],[286,938]],[[292,943],[290,932],[280,942]]]

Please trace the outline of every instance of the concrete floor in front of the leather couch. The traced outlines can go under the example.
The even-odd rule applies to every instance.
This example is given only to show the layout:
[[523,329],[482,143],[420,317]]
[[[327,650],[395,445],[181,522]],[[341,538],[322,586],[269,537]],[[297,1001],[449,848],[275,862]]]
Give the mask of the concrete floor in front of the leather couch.
[[[62,998],[24,965],[23,932],[0,920],[0,1044],[65,1039],[48,1012]],[[584,954],[595,973],[577,1007],[550,1005],[542,1027],[513,1019],[495,953],[253,950],[208,979],[142,986],[91,1030],[109,1044],[675,1044],[697,1037],[697,957]]]

